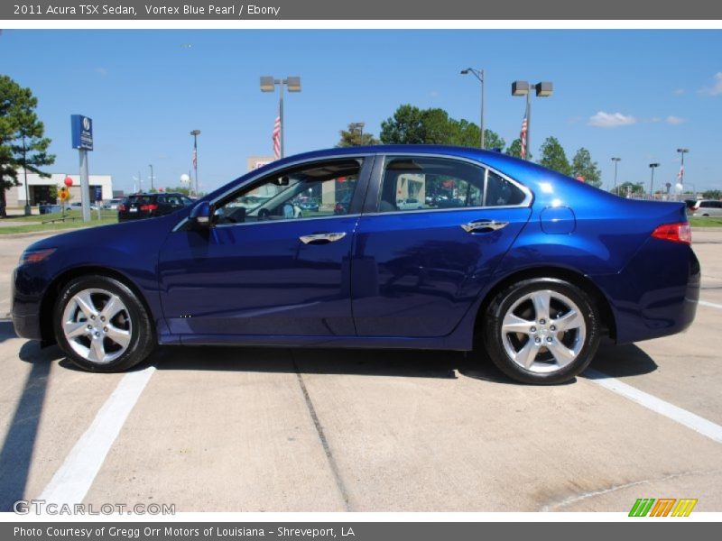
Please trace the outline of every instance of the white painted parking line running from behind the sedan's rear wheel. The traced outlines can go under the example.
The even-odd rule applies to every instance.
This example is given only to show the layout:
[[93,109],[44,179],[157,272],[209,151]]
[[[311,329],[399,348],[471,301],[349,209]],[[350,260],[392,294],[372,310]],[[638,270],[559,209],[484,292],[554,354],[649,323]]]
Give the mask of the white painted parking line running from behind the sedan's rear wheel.
[[722,444],[722,426],[719,426],[712,421],[708,421],[704,417],[699,417],[687,411],[686,409],[678,408],[669,402],[665,402],[662,399],[638,390],[631,385],[627,385],[622,381],[616,380],[615,378],[609,377],[606,374],[587,369],[584,371],[584,375],[589,380],[594,381],[597,385],[601,385],[606,390],[616,392],[616,394],[630,399],[644,408],[651,409],[655,413],[671,419],[680,425],[687,426],[695,432],[699,432],[702,436],[707,436],[709,439],[716,441],[718,444]]

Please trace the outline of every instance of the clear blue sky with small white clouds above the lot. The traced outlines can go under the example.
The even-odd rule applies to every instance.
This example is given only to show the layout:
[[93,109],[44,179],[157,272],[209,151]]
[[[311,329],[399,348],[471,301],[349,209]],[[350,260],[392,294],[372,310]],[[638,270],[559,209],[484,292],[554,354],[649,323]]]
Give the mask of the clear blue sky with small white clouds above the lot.
[[5,30],[0,73],[30,87],[56,154],[50,172],[78,173],[70,115],[93,119],[91,174],[114,188],[180,185],[199,129],[199,184],[210,191],[273,154],[278,93],[259,77],[301,77],[285,95],[285,153],[329,148],[352,122],[378,136],[399,105],[441,107],[479,121],[486,71],[486,127],[519,136],[524,99],[516,79],[551,81],[532,97],[531,148],[557,137],[569,159],[587,148],[614,182],[685,182],[722,189],[722,31],[719,30]]

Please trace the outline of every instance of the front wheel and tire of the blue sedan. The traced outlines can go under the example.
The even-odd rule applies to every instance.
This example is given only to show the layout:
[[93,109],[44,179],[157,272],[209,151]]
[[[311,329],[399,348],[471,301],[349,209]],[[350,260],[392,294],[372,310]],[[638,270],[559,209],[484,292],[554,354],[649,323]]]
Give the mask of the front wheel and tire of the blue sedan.
[[63,353],[87,371],[127,370],[155,346],[143,303],[124,283],[104,276],[82,276],[63,287],[53,328]]

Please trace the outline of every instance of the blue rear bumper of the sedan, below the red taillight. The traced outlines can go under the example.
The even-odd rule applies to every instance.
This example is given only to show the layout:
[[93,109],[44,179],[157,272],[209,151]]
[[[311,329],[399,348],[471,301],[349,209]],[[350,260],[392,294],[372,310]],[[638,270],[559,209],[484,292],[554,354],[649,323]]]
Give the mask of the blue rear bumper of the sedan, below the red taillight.
[[617,344],[675,335],[697,313],[700,266],[686,244],[651,238],[623,271],[591,278],[612,307]]

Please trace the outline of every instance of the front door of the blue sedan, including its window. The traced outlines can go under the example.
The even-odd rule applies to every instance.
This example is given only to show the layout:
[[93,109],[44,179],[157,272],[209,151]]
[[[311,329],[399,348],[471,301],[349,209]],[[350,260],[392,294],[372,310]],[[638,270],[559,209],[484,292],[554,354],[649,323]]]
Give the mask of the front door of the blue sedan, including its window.
[[[273,171],[211,202],[208,230],[171,233],[159,263],[171,333],[183,342],[354,335],[349,261],[372,160]],[[296,217],[287,208],[299,194],[323,203]],[[349,212],[338,213],[338,201],[349,195]]]

